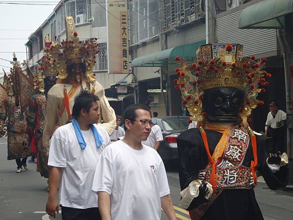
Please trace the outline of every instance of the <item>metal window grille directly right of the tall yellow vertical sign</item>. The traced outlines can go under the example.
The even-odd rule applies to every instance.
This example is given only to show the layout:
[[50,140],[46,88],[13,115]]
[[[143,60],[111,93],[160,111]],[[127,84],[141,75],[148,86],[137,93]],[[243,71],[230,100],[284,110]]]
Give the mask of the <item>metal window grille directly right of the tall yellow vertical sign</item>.
[[130,44],[159,34],[159,0],[133,0],[129,3]]

